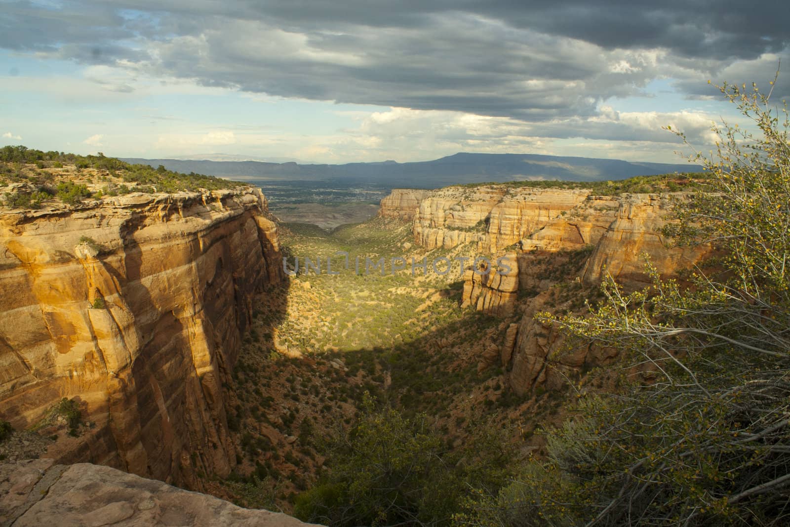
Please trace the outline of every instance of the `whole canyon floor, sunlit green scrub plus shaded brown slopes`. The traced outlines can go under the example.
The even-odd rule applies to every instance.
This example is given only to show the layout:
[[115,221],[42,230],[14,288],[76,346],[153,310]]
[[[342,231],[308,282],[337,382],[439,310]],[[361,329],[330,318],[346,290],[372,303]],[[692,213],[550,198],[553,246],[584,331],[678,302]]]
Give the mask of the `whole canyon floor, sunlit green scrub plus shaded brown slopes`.
[[[532,435],[541,413],[559,420],[562,397],[517,397],[501,367],[482,368],[480,357],[502,342],[521,316],[495,318],[461,308],[461,269],[423,275],[407,268],[365,274],[364,258],[401,256],[412,262],[439,256],[474,256],[472,247],[412,247],[410,224],[375,218],[326,232],[284,224],[284,254],[299,274],[263,292],[250,335],[228,386],[228,419],[241,446],[229,480],[209,491],[244,506],[290,511],[295,495],[317,480],[331,439],[348,427],[369,392],[414,416],[425,412],[450,447],[480,431],[496,430],[525,452],[540,446]],[[334,256],[326,273],[325,258]],[[355,271],[355,256],[361,262]],[[304,274],[304,258],[322,259],[322,273]],[[550,417],[549,417],[550,418]],[[551,419],[551,418],[550,418]]]

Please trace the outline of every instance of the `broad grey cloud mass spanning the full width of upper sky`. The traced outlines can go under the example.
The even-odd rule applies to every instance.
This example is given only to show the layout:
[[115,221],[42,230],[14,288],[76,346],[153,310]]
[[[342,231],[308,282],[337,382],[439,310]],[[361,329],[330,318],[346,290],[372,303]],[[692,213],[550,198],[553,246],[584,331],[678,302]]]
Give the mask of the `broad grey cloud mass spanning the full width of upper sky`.
[[712,95],[705,80],[723,74],[765,78],[778,57],[790,64],[784,4],[13,2],[0,46],[276,96],[539,122],[588,118],[661,77],[689,96]]

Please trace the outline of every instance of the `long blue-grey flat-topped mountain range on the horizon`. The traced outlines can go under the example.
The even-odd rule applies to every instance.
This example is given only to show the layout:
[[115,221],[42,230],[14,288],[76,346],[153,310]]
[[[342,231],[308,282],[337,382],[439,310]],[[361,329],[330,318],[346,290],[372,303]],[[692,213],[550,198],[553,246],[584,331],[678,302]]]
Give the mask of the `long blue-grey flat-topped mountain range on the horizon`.
[[635,175],[700,171],[694,164],[635,163],[589,157],[538,156],[535,154],[457,153],[416,163],[296,164],[261,161],[213,161],[124,158],[179,172],[197,172],[242,181],[324,181],[387,188],[433,189],[459,183],[562,179],[600,181]]

